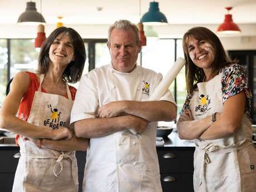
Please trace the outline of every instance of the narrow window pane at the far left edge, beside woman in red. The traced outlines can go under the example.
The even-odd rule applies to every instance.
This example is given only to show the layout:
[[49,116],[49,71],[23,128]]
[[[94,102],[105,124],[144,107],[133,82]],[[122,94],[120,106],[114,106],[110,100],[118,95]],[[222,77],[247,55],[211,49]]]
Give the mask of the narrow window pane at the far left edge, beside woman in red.
[[7,40],[0,40],[0,106],[6,96],[7,85],[7,62],[8,62]]

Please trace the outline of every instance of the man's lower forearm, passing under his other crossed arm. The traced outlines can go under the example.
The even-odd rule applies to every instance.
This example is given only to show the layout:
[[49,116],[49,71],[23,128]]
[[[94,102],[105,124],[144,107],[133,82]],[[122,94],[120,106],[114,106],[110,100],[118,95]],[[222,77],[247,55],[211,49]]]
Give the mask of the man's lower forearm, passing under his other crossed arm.
[[114,132],[128,129],[129,117],[119,116],[112,118],[89,118],[74,123],[77,137],[102,137]]

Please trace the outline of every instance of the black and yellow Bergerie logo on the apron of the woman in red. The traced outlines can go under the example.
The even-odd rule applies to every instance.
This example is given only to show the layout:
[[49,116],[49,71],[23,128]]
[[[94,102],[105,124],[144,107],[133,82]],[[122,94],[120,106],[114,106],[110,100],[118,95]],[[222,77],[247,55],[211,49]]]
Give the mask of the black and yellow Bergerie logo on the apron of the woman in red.
[[50,119],[44,120],[44,126],[48,126],[52,129],[59,129],[59,127],[66,127],[66,121],[60,121],[61,111],[57,108],[52,109],[51,104],[47,105],[50,108]]

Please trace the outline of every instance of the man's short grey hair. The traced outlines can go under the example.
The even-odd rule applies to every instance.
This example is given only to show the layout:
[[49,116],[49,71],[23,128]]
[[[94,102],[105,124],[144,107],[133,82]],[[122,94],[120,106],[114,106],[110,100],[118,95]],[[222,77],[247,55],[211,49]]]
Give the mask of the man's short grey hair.
[[112,24],[108,29],[108,45],[110,45],[110,35],[114,28],[123,29],[124,31],[128,31],[130,28],[133,29],[133,31],[136,34],[136,43],[137,45],[140,44],[139,40],[139,30],[136,26],[136,24],[128,21],[128,20],[118,20],[115,21],[114,24]]

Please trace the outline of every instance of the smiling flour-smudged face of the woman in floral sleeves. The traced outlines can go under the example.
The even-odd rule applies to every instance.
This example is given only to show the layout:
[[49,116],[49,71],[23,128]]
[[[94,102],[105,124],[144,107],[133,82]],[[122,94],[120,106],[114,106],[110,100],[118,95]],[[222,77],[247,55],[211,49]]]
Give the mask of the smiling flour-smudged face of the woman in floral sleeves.
[[194,36],[189,36],[187,40],[187,50],[191,60],[197,67],[211,70],[214,62],[214,47],[206,40],[196,40]]

